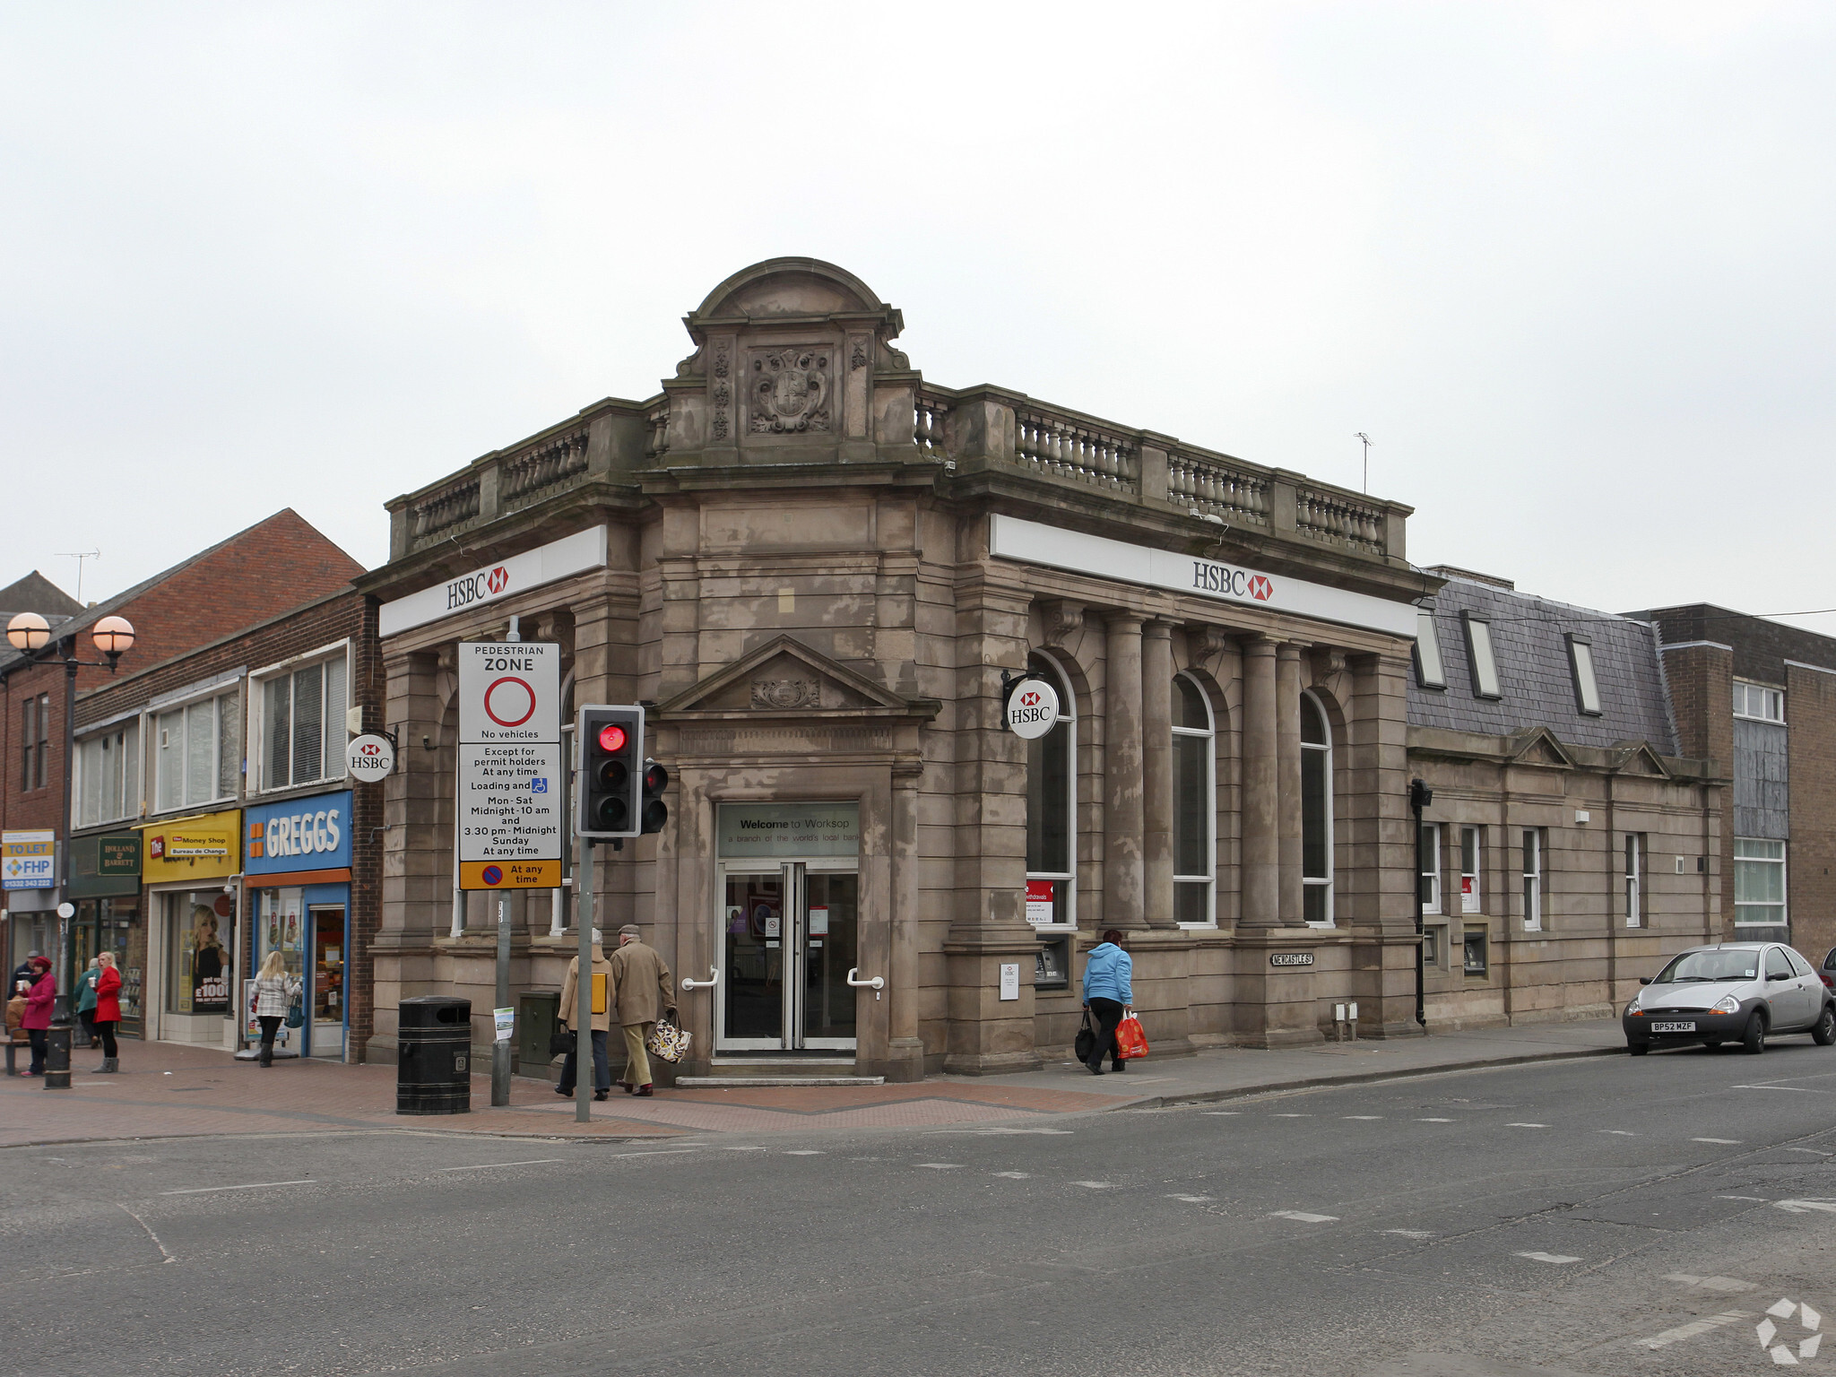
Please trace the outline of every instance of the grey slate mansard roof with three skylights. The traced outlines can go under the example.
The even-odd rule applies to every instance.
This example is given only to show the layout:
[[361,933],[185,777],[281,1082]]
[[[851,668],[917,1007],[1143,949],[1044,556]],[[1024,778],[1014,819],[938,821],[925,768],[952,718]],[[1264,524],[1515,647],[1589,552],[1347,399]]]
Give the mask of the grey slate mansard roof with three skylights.
[[[1449,578],[1447,586],[1421,606],[1434,611],[1447,688],[1423,688],[1416,670],[1410,668],[1412,727],[1443,727],[1489,736],[1548,727],[1572,745],[1647,742],[1660,755],[1676,755],[1669,685],[1658,654],[1658,632],[1651,622],[1458,577]],[[1498,663],[1502,700],[1472,694],[1461,611],[1491,619],[1493,659]],[[1575,707],[1575,681],[1564,639],[1570,632],[1588,637],[1594,646],[1594,677],[1601,692],[1597,718],[1584,716]]]

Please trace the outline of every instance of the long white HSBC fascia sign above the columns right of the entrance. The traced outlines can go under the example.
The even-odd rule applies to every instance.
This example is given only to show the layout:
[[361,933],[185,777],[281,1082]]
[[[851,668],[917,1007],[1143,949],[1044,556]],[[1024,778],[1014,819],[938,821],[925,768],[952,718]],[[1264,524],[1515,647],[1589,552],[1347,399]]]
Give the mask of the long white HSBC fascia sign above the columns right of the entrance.
[[1223,602],[1241,602],[1250,608],[1269,608],[1296,617],[1316,617],[1344,626],[1366,626],[1390,635],[1416,637],[1416,606],[1392,602],[1346,588],[1309,584],[1305,578],[1267,575],[1239,564],[1223,564],[1197,554],[1131,545],[1107,536],[1087,536],[1081,531],[1024,521],[1017,516],[993,516],[990,554],[1026,564],[1045,564],[1054,569],[1120,578],[1125,584],[1168,588],[1175,593],[1197,593]]

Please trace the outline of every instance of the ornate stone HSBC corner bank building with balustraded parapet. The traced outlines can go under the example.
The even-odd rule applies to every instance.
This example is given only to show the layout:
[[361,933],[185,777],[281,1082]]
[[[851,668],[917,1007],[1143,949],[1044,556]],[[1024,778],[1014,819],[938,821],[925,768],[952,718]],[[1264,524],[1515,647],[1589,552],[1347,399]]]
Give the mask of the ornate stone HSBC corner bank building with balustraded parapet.
[[[1364,1036],[1417,1030],[1408,701],[1443,580],[1408,507],[933,386],[826,263],[738,272],[685,325],[657,395],[389,503],[358,580],[400,742],[371,1058],[411,995],[470,995],[490,1036],[455,646],[512,617],[560,644],[564,712],[650,709],[670,821],[600,850],[597,914],[700,982],[683,1070],[1034,1067],[1105,927],[1157,1054],[1318,1041],[1349,1001]],[[1063,705],[1036,742],[1002,722],[1026,670]],[[514,900],[514,988],[560,986],[571,909]]]

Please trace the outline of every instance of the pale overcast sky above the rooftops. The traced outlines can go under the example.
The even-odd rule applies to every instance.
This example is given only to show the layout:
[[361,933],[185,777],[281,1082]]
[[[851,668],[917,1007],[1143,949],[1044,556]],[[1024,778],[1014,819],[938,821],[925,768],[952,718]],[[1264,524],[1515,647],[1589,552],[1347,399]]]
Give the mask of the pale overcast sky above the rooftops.
[[1368,431],[1417,564],[1836,606],[1832,72],[1755,0],[0,4],[0,584],[288,505],[376,565],[791,253],[936,384],[1353,488]]

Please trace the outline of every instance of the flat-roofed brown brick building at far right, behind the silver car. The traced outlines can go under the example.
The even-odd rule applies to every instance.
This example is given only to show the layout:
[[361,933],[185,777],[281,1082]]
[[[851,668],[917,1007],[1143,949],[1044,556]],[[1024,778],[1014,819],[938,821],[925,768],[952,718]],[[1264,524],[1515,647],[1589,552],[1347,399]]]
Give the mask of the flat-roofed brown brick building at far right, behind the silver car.
[[1632,613],[1663,633],[1684,751],[1724,762],[1726,936],[1836,946],[1836,639],[1707,602]]

